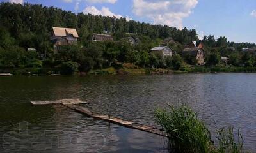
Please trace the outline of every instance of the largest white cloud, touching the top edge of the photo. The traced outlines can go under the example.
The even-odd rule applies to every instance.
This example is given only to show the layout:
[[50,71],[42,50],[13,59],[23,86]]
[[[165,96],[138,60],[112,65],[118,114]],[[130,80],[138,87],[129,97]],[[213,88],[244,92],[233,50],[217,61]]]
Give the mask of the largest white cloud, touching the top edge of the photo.
[[188,17],[198,0],[133,0],[133,12],[148,17],[154,24],[182,29],[183,18]]

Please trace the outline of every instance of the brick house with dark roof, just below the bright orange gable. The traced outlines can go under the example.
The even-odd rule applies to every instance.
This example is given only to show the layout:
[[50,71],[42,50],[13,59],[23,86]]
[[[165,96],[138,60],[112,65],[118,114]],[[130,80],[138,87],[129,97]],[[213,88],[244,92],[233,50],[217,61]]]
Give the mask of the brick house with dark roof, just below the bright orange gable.
[[182,57],[190,56],[197,60],[197,64],[204,64],[205,53],[202,48],[193,47],[193,48],[185,48],[182,51]]

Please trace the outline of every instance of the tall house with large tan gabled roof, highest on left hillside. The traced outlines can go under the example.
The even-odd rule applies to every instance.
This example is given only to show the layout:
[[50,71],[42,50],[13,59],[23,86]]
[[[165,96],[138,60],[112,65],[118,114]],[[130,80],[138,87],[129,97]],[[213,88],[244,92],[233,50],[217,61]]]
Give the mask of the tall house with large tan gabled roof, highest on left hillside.
[[76,29],[65,27],[52,27],[51,41],[54,44],[54,53],[58,52],[61,46],[77,43],[79,38]]

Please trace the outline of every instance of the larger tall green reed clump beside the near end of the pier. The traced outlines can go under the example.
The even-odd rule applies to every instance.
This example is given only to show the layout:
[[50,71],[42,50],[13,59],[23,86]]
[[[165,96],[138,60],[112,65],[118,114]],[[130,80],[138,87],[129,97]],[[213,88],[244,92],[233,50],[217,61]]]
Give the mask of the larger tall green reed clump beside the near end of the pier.
[[211,152],[210,131],[188,106],[170,106],[170,110],[157,110],[155,115],[173,152]]

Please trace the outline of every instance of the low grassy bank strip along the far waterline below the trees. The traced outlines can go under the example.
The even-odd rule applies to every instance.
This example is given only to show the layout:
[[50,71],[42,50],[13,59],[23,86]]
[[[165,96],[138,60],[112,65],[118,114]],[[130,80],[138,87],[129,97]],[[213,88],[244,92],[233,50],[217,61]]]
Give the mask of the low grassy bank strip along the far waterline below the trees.
[[[14,68],[1,69],[12,75],[52,75],[60,74],[61,68]],[[180,73],[256,73],[256,67],[235,67],[235,66],[185,66],[180,70],[164,68],[140,68],[137,66],[122,68],[93,69],[89,72],[74,72],[74,75],[161,75]]]

